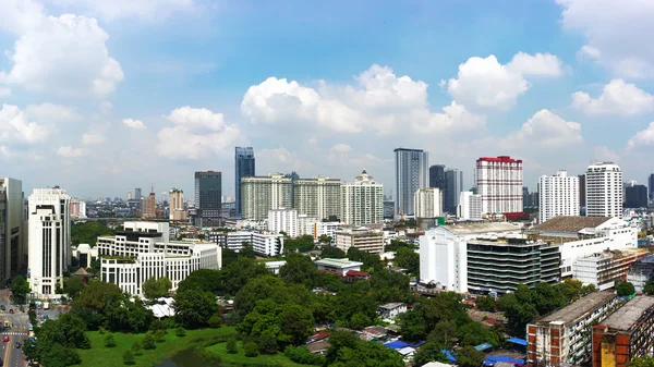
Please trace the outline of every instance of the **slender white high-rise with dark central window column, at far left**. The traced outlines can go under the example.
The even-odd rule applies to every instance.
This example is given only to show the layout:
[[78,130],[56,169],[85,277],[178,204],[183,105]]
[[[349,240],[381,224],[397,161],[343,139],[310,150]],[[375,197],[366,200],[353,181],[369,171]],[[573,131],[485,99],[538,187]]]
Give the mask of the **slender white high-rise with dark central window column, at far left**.
[[35,188],[28,199],[28,282],[38,295],[63,288],[71,260],[70,196],[65,189]]

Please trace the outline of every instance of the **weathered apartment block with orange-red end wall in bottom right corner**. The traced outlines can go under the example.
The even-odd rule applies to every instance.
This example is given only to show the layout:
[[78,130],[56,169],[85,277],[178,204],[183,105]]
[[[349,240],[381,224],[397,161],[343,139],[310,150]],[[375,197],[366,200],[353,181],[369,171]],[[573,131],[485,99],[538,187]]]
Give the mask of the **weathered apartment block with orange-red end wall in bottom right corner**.
[[654,353],[654,297],[630,299],[593,327],[593,367],[626,367]]

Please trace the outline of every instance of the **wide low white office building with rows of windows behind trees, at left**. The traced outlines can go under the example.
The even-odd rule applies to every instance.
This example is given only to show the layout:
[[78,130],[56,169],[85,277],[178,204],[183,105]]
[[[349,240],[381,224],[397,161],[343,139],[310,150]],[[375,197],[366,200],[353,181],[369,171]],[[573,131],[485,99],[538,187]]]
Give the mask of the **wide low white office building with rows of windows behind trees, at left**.
[[125,222],[124,231],[97,241],[101,279],[123,292],[143,294],[143,283],[167,277],[172,291],[191,272],[220,269],[222,253],[216,243],[169,241],[167,222]]

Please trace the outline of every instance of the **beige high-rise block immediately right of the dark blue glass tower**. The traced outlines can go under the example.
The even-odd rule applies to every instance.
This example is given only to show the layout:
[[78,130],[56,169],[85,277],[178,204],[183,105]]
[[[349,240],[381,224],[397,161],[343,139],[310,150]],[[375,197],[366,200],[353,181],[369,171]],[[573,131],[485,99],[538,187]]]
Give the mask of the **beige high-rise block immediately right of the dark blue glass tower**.
[[264,220],[268,211],[291,208],[291,179],[282,174],[241,179],[241,216]]

